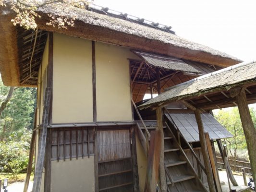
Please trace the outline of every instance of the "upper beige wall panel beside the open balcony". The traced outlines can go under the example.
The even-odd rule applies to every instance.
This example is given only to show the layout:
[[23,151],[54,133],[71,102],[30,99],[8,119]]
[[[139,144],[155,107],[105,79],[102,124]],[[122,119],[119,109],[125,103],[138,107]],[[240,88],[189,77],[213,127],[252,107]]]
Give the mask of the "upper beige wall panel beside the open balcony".
[[97,121],[132,120],[128,48],[95,43]]

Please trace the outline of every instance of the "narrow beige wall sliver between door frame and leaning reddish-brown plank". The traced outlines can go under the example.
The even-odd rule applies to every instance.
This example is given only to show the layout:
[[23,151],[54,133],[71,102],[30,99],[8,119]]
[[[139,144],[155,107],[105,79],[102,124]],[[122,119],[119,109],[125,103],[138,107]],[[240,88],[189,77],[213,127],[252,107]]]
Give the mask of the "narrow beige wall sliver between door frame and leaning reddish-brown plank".
[[137,165],[138,165],[138,174],[139,174],[139,186],[140,192],[144,192],[145,180],[146,180],[146,167],[147,167],[147,158],[144,154],[140,140],[136,135],[136,151],[137,151]]

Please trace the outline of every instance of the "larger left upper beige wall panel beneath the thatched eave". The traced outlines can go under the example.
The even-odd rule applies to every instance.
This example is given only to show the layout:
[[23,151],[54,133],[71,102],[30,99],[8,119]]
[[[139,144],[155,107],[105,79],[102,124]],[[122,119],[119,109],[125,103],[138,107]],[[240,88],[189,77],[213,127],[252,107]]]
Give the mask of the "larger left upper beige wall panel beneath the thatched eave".
[[52,122],[92,121],[91,41],[54,33]]

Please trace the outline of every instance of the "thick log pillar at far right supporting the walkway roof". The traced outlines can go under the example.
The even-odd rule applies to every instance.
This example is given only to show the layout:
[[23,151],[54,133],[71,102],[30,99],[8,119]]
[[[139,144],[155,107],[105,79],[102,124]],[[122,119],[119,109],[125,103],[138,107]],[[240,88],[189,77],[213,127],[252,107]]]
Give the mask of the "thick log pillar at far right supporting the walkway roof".
[[244,88],[241,89],[236,98],[240,119],[244,129],[245,140],[253,173],[253,180],[256,180],[256,128],[254,127],[253,120],[247,105]]

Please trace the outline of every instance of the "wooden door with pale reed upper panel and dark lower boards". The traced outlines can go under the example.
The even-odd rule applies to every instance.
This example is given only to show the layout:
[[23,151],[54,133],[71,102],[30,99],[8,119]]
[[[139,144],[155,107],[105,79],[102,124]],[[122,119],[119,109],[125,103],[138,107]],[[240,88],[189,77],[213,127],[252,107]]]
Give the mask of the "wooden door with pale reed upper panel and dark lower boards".
[[133,192],[130,130],[99,130],[98,189],[101,192]]

